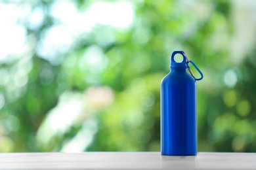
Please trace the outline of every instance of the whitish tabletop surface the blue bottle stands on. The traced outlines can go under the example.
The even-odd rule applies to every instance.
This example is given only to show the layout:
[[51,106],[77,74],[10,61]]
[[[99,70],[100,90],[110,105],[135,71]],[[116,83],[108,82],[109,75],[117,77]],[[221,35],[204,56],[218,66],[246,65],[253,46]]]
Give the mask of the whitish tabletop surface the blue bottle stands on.
[[256,153],[160,152],[1,153],[0,169],[256,169]]

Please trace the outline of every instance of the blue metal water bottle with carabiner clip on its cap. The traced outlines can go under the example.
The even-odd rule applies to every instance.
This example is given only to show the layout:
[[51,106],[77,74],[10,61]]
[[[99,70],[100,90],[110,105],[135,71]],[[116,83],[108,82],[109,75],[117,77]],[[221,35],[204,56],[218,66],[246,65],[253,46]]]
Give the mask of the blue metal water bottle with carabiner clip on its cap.
[[[182,55],[181,62],[175,61],[176,54]],[[189,63],[201,78],[194,77]],[[161,81],[161,154],[196,156],[196,80],[202,80],[203,74],[182,51],[171,54],[170,68],[171,72]]]

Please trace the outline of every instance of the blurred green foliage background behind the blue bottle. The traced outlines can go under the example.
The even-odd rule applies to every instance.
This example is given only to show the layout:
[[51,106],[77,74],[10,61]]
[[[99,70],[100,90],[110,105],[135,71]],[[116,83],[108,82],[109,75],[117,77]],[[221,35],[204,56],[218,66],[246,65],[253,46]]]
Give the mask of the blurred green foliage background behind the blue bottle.
[[1,1],[0,152],[160,151],[174,50],[205,76],[198,151],[256,152],[255,38],[255,1]]

